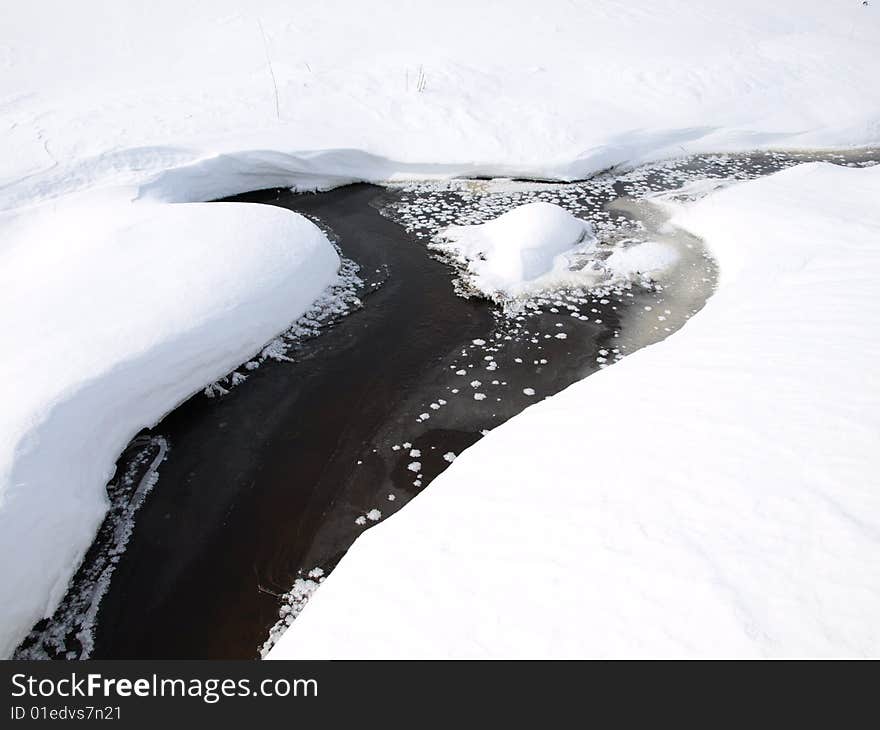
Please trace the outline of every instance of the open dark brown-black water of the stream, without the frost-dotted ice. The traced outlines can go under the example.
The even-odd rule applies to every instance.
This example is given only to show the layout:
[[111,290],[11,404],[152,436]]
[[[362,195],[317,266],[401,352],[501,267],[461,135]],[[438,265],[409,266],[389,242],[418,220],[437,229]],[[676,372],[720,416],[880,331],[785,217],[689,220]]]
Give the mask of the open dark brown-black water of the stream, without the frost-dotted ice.
[[303,566],[341,557],[392,481],[370,444],[406,418],[426,372],[491,327],[487,308],[450,296],[446,267],[370,206],[377,192],[249,196],[321,216],[366,280],[379,269],[387,281],[295,365],[264,366],[158,427],[173,458],[104,599],[94,656],[255,656],[278,611],[259,587],[283,592]]

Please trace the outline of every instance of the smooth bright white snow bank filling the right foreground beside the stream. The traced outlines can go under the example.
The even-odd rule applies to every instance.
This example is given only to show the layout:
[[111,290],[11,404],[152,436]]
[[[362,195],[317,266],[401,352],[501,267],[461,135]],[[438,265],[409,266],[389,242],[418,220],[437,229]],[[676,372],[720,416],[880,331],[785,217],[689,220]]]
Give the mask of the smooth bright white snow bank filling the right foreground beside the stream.
[[271,656],[880,655],[877,200],[813,164],[680,210],[706,307],[459,456]]

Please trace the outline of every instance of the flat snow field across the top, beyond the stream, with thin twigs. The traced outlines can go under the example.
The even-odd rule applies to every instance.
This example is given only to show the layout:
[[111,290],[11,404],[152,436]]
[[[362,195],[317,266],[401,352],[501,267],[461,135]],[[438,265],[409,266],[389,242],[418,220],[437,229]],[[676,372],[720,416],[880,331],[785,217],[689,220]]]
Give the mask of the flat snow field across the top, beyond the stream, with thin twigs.
[[880,142],[878,37],[857,0],[19,3],[0,207]]

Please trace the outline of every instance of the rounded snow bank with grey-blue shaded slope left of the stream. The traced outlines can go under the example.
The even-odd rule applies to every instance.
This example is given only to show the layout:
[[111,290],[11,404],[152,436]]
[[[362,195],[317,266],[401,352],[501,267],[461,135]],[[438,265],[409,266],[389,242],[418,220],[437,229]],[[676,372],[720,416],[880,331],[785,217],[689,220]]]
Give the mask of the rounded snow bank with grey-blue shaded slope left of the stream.
[[50,615],[122,449],[336,277],[320,230],[261,205],[75,200],[7,214],[0,312],[0,655]]

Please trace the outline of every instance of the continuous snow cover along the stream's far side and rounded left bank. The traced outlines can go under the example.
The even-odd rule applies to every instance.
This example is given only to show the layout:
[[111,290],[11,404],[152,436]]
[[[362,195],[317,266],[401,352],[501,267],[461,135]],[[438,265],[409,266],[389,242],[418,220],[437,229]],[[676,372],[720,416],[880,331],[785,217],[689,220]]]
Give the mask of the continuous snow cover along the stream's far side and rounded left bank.
[[168,204],[874,144],[878,38],[849,0],[5,8],[0,655],[54,608],[128,436],[331,278],[293,214]]

